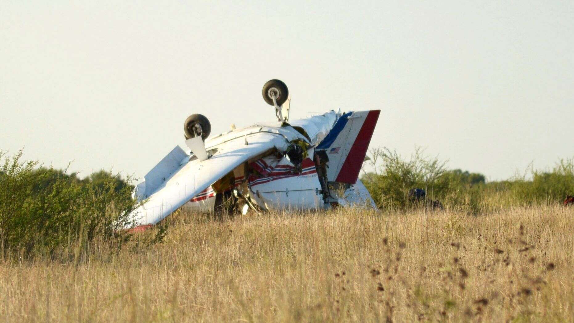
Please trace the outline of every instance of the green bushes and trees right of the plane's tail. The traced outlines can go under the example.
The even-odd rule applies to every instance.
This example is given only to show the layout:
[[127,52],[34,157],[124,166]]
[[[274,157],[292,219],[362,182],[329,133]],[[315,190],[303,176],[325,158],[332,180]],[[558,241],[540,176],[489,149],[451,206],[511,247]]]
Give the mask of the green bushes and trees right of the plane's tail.
[[[408,209],[440,201],[445,208],[471,213],[512,206],[562,203],[574,195],[574,158],[562,159],[550,171],[528,169],[506,181],[487,182],[483,174],[449,170],[447,162],[416,149],[409,159],[396,151],[370,151],[374,172],[362,176],[364,185],[382,209]],[[425,189],[425,201],[409,197],[413,188]]]

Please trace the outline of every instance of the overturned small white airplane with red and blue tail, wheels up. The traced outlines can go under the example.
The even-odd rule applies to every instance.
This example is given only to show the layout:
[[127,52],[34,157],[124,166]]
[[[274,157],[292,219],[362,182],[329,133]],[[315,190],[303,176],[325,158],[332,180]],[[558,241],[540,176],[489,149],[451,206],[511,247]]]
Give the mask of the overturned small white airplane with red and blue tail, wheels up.
[[[134,189],[142,204],[130,213],[138,226],[158,223],[180,207],[197,212],[305,210],[337,205],[376,208],[358,179],[380,110],[329,111],[289,121],[289,90],[263,86],[277,122],[209,137],[211,124],[193,114],[176,146]],[[207,139],[207,140],[206,140]]]

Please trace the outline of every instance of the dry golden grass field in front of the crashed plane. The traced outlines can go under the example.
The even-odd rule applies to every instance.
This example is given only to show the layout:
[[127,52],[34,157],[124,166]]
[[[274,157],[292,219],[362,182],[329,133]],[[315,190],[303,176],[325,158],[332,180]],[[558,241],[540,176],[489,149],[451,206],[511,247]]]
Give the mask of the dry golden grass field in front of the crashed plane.
[[0,320],[566,322],[573,254],[574,208],[179,214],[144,251],[3,260]]

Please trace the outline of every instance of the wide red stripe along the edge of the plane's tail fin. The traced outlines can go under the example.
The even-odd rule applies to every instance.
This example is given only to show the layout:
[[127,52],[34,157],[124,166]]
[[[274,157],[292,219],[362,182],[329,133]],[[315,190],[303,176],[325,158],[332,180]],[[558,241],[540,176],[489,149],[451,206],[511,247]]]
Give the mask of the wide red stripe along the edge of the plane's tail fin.
[[381,110],[372,110],[367,114],[363,122],[363,126],[359,130],[359,134],[355,138],[347,159],[343,163],[337,179],[335,181],[355,184],[357,178],[359,177],[360,168],[363,165],[364,156],[367,154],[367,149],[369,149],[369,143],[371,142],[371,137],[373,137],[373,132],[375,131],[375,126],[377,125],[377,120],[379,119],[379,114]]

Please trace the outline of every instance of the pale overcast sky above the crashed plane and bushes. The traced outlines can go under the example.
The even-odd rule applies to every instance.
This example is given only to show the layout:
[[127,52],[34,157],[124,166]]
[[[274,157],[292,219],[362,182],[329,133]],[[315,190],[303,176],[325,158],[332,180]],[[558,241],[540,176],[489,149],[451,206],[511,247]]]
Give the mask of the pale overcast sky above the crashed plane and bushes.
[[83,176],[143,176],[189,114],[274,120],[273,78],[491,180],[574,156],[573,1],[0,0],[0,150]]

